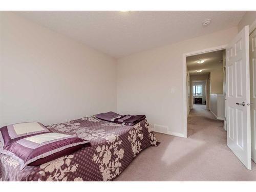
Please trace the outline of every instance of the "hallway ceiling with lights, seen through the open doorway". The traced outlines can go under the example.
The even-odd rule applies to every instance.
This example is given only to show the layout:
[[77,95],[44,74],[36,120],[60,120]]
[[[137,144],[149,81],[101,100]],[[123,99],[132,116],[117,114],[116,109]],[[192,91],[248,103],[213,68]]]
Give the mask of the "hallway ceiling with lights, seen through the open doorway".
[[[190,75],[208,74],[216,68],[222,68],[223,51],[209,52],[200,55],[187,57],[187,69]],[[198,64],[197,61],[203,59],[203,63]],[[203,70],[198,73],[196,70]]]

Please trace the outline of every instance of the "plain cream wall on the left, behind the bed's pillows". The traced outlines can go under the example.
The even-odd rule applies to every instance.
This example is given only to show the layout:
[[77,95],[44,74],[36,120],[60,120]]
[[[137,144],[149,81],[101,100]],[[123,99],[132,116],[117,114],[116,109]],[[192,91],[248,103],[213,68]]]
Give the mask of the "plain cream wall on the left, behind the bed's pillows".
[[14,13],[0,14],[0,127],[116,111],[115,59]]

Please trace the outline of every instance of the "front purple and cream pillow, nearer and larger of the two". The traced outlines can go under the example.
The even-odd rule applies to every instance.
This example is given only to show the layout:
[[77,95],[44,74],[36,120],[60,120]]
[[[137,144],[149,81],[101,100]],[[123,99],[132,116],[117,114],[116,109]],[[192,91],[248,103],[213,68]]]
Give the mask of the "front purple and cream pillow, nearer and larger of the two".
[[0,153],[10,155],[20,163],[36,166],[79,150],[83,145],[91,146],[89,141],[76,136],[60,133],[44,133],[15,141]]

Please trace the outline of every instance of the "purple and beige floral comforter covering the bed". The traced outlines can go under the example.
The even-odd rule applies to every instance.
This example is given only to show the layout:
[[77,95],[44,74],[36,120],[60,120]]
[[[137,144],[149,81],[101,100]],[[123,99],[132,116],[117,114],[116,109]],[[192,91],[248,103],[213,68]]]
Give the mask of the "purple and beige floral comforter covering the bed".
[[134,126],[103,121],[95,116],[47,126],[49,130],[89,140],[84,147],[42,164],[26,166],[0,154],[2,181],[109,181],[114,180],[148,146],[159,143],[146,119]]

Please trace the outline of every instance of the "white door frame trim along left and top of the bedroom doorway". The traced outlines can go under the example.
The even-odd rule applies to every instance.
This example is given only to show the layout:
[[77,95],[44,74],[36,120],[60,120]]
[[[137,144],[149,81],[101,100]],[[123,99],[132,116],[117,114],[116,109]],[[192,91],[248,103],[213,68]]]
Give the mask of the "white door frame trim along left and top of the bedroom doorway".
[[203,49],[203,50],[198,50],[198,51],[193,51],[189,53],[184,53],[183,54],[183,59],[182,59],[182,69],[183,69],[183,124],[184,124],[184,130],[183,130],[183,135],[184,137],[187,137],[187,61],[186,58],[188,56],[193,56],[193,55],[200,55],[203,53],[209,53],[209,52],[214,52],[214,51],[220,51],[226,49],[227,45],[222,45],[218,47],[212,47],[208,49]]

